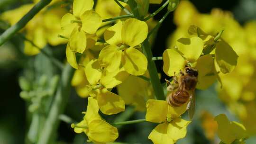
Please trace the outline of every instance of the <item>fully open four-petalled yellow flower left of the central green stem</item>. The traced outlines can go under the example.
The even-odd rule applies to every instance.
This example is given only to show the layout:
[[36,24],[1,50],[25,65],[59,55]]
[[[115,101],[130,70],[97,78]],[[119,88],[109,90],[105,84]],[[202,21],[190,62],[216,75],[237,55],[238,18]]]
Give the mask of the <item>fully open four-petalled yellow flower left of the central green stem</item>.
[[119,21],[104,33],[104,39],[110,45],[101,50],[99,63],[110,72],[118,70],[122,63],[128,73],[143,75],[147,70],[147,59],[135,46],[141,44],[146,36],[146,22],[135,18],[124,23]]

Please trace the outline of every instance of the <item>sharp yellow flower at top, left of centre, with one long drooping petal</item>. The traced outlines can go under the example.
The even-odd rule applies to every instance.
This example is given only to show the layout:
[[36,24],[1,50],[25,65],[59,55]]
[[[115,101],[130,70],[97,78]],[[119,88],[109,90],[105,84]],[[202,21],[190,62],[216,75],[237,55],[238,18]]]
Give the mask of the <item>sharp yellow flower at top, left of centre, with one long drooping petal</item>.
[[[62,35],[69,39],[66,57],[75,69],[78,68],[75,53],[82,54],[97,42],[95,33],[101,26],[102,18],[92,10],[93,4],[93,0],[74,0],[73,14],[67,13],[61,19]],[[92,45],[88,45],[91,40]]]

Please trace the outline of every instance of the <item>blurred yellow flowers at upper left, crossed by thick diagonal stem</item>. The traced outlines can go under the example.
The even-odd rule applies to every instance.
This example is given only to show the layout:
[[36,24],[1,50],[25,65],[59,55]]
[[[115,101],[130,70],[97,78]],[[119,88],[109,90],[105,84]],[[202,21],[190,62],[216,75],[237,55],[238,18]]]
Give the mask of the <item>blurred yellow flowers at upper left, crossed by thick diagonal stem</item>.
[[[56,0],[55,0],[56,1]],[[34,4],[26,4],[17,9],[9,10],[0,15],[0,18],[14,25],[22,18]],[[63,16],[64,9],[43,9],[41,12],[31,19],[23,28],[26,32],[26,38],[32,41],[39,48],[43,48],[47,43],[50,45],[59,45],[65,42],[60,39],[58,34],[61,32],[59,21]],[[15,17],[13,17],[15,15]],[[42,23],[42,21],[44,21]],[[24,42],[24,53],[27,55],[35,55],[40,49],[32,45],[31,42]]]

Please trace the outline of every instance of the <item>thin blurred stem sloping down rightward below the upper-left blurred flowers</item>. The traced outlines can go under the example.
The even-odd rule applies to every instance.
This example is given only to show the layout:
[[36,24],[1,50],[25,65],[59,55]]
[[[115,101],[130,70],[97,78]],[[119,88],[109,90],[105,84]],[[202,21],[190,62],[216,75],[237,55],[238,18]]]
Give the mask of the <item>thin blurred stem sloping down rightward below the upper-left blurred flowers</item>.
[[41,49],[33,41],[31,41],[30,39],[27,39],[27,37],[24,35],[19,34],[19,36],[21,36],[21,38],[23,38],[24,40],[28,41],[31,45],[35,46],[42,54],[44,54],[46,57],[48,57],[51,60],[51,62],[55,66],[57,66],[60,70],[62,70],[64,68],[63,64],[59,60],[55,59],[55,57],[53,57],[51,54],[48,54],[45,49]]

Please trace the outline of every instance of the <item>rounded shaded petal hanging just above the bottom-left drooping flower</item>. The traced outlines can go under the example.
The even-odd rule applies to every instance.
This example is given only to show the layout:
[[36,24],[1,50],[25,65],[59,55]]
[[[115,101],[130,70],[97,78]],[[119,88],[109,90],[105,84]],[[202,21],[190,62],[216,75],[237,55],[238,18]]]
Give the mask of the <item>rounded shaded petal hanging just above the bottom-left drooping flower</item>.
[[106,115],[113,115],[125,110],[125,102],[108,90],[102,90],[97,96],[99,108],[101,112]]

